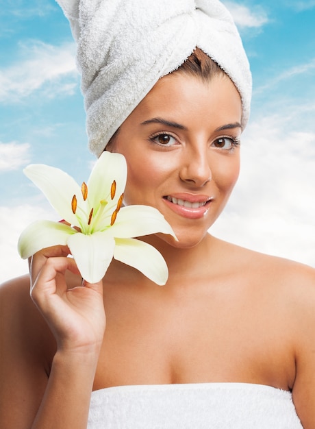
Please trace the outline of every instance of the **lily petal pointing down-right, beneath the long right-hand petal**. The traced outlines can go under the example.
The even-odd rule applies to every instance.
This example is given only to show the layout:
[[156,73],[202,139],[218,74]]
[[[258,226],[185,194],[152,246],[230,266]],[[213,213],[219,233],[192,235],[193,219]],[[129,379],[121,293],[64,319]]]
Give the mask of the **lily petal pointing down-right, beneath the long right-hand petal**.
[[166,284],[168,268],[155,247],[136,238],[115,238],[114,258],[141,271],[160,286]]

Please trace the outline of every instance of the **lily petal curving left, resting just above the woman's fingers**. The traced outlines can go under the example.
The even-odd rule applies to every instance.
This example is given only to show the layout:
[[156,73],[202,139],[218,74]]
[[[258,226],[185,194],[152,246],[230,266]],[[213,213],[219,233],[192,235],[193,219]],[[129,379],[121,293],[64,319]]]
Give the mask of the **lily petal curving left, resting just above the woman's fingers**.
[[41,249],[66,245],[68,237],[77,231],[64,223],[36,221],[31,223],[18,239],[18,254],[26,259]]

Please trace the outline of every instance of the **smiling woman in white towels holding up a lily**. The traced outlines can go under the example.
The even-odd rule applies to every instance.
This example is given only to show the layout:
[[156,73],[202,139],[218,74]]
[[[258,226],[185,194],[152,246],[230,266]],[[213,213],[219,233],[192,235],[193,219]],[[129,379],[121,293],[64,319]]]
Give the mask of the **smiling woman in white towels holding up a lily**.
[[[96,71],[96,62],[104,64],[101,54],[90,62],[103,47],[90,32],[99,31],[106,2],[95,14],[84,1],[80,8],[62,3],[79,46],[92,150],[100,154],[110,140],[106,149],[127,160],[125,204],[160,210],[178,241],[145,237],[167,262],[162,287],[115,260],[102,282],[76,287],[81,278],[64,246],[32,258],[32,299],[27,278],[3,286],[1,428],[314,428],[314,270],[207,233],[238,178],[249,112],[249,71],[225,8],[200,2],[188,10],[185,32],[174,41],[175,49],[189,23],[209,23],[205,16],[212,10],[217,25],[201,28],[222,41],[212,56],[218,60],[210,60],[211,49],[200,39],[188,60],[178,69],[168,64],[168,71],[162,54],[165,46],[171,49],[172,22],[184,19],[186,2],[174,1],[166,11],[160,1],[145,16],[139,13],[143,27],[162,26],[157,34],[165,45],[156,34],[148,44],[152,50],[153,39],[160,43],[162,66],[155,61],[158,72],[149,69],[142,42],[139,60],[145,58],[149,82],[136,85],[139,75],[131,73],[136,86],[121,95],[118,87],[128,86],[128,79],[116,82],[117,74],[110,68],[103,74],[99,64]],[[138,28],[138,14],[132,17]],[[233,49],[222,32],[229,26]],[[104,48],[104,56],[122,53],[115,47]],[[137,66],[123,57],[118,66],[125,64],[123,77]],[[110,85],[104,79],[112,79]]]

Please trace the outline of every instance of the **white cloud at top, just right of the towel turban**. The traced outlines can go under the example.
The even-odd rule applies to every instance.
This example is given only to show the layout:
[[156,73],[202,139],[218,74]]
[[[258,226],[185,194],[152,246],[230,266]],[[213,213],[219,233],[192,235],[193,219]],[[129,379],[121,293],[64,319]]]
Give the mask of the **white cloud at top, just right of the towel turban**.
[[259,28],[268,23],[268,16],[260,6],[255,6],[251,10],[247,6],[235,3],[234,1],[224,1],[224,3],[231,12],[236,25],[240,28]]

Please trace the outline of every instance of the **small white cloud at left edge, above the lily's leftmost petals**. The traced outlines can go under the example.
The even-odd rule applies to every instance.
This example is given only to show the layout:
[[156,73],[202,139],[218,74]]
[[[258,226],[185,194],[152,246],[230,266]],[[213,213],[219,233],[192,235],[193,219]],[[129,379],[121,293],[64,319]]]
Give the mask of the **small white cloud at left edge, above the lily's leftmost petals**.
[[0,142],[0,173],[1,171],[17,170],[29,162],[28,143]]

